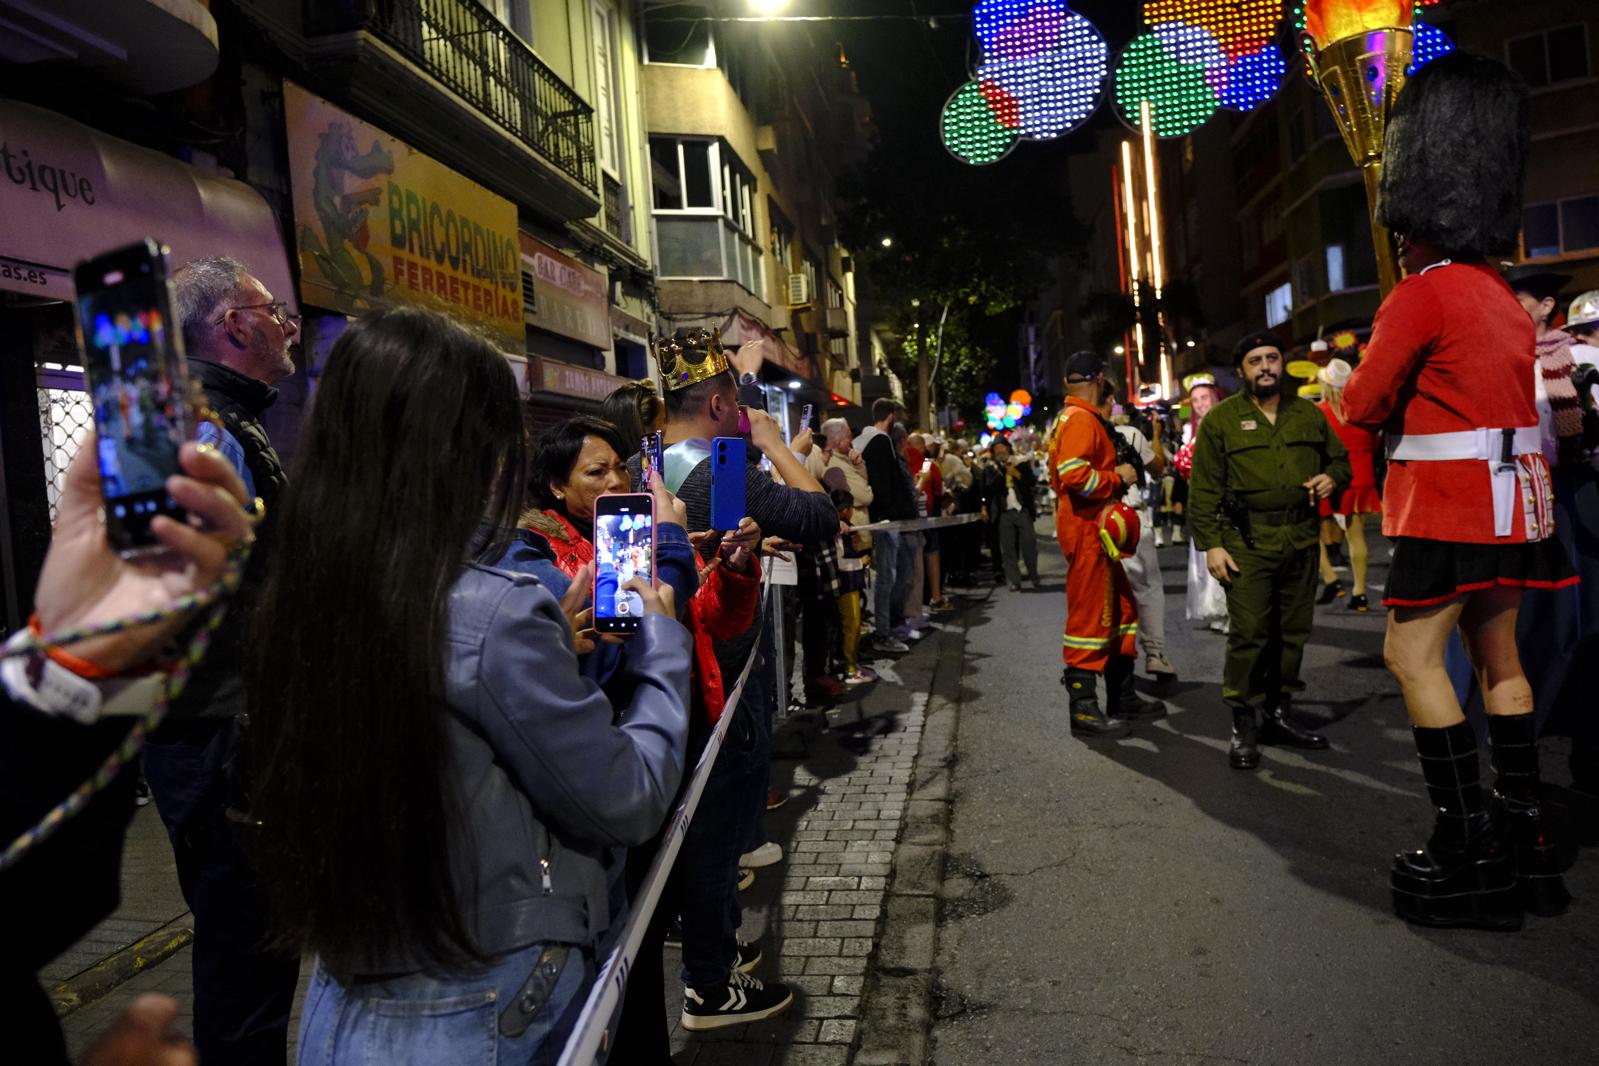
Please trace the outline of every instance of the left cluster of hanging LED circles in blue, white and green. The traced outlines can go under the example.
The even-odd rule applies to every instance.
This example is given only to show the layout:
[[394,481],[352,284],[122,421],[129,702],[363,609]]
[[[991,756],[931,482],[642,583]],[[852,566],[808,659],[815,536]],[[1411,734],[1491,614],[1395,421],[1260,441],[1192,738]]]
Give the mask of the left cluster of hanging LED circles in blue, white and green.
[[951,155],[995,163],[1017,141],[1060,137],[1094,113],[1110,48],[1067,0],[982,0],[972,27],[982,64],[950,96],[940,121]]

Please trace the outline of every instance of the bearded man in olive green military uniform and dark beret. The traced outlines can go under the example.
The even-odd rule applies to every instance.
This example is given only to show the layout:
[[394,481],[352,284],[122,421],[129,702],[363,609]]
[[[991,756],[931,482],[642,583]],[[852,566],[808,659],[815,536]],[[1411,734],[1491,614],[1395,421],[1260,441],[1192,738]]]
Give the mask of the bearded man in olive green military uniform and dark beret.
[[1327,746],[1289,719],[1289,706],[1305,687],[1318,505],[1350,483],[1350,457],[1316,404],[1284,395],[1281,340],[1244,337],[1233,369],[1244,390],[1210,408],[1194,438],[1188,523],[1207,569],[1226,585],[1228,761],[1247,770],[1260,764],[1257,743]]

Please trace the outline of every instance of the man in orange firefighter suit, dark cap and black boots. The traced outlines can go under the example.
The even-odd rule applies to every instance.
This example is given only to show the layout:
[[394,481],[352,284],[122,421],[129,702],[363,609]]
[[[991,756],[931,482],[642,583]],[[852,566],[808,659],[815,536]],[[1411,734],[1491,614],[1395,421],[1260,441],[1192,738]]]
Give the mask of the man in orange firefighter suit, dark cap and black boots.
[[[1100,542],[1100,511],[1137,478],[1116,457],[1118,435],[1100,417],[1108,384],[1105,363],[1092,352],[1067,360],[1067,406],[1049,433],[1049,484],[1057,494],[1055,539],[1067,556],[1067,631],[1062,658],[1071,732],[1124,737],[1130,719],[1156,718],[1166,706],[1134,690],[1132,660],[1138,606],[1121,563]],[[1105,705],[1097,694],[1105,674]]]

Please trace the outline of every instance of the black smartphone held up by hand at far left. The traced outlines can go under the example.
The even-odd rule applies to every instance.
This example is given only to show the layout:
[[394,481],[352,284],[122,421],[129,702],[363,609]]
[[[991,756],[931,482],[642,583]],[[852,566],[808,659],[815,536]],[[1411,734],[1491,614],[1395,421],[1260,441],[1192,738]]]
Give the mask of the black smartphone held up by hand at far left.
[[166,253],[146,238],[72,270],[106,535],[123,558],[165,550],[150,532],[157,515],[185,519],[166,494],[166,479],[179,470],[177,449],[193,436]]

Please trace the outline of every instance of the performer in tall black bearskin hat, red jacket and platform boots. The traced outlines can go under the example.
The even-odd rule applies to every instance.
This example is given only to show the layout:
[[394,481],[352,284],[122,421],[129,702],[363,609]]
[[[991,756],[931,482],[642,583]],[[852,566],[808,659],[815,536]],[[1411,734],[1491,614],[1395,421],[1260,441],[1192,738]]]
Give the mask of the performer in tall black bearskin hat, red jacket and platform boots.
[[[1436,823],[1391,868],[1394,911],[1423,925],[1517,929],[1565,887],[1538,801],[1533,698],[1516,647],[1524,588],[1575,580],[1553,532],[1533,406],[1533,329],[1485,262],[1516,243],[1527,88],[1453,53],[1399,94],[1378,221],[1410,273],[1383,300],[1343,393],[1351,425],[1388,435],[1383,532],[1396,539],[1383,657],[1404,692]],[[1495,802],[1444,668],[1460,626],[1489,711]],[[1506,837],[1505,829],[1509,831]]]

